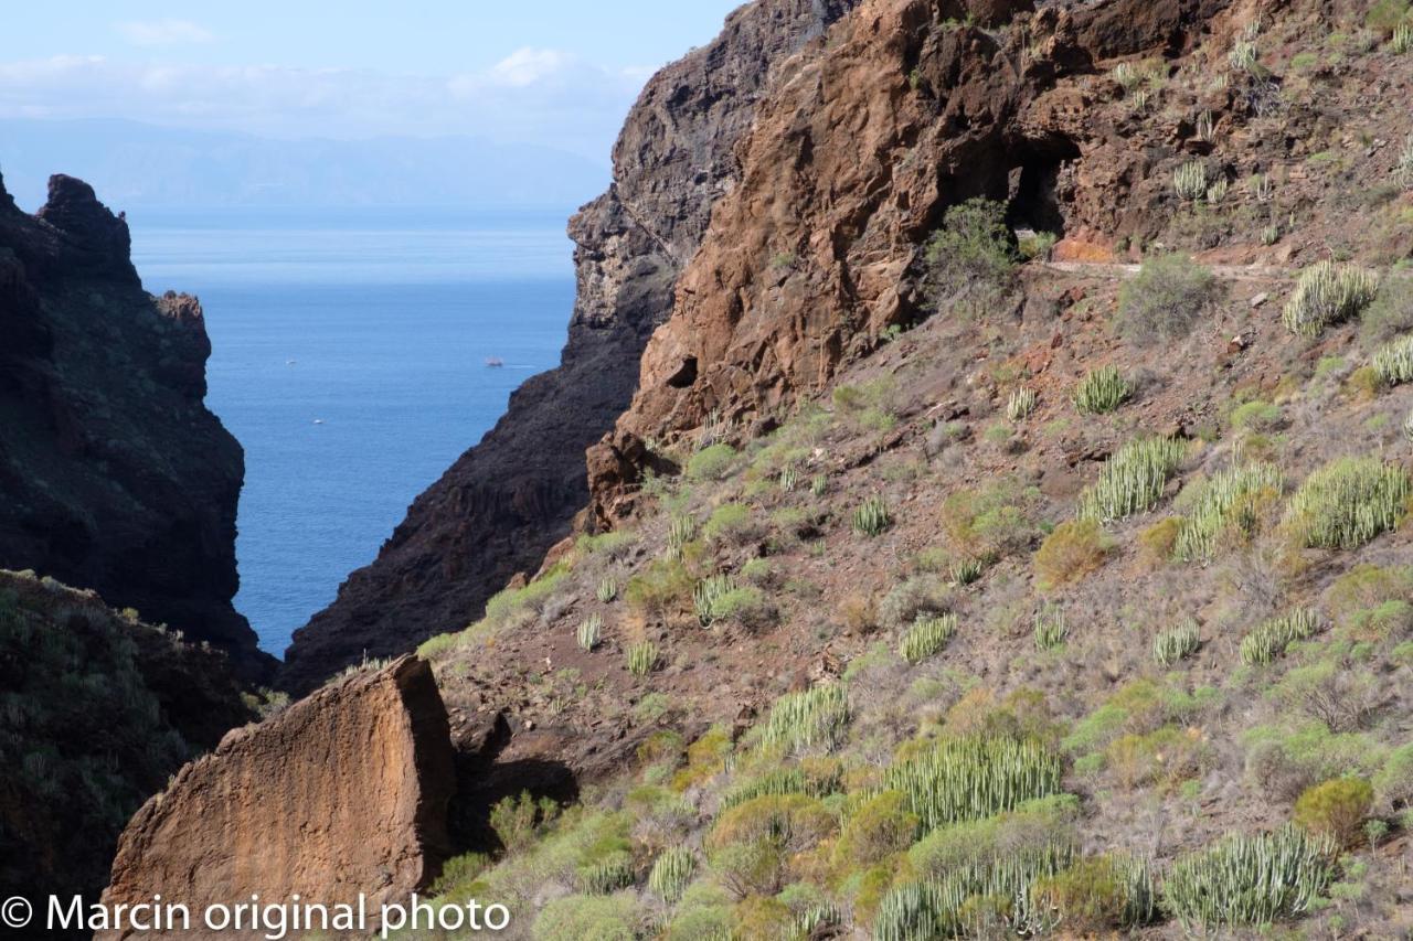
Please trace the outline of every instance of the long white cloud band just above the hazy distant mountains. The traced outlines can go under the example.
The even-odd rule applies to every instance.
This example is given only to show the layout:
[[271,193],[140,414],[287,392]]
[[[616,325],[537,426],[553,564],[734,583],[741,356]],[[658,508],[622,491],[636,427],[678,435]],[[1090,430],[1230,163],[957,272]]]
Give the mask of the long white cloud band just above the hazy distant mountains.
[[537,48],[452,76],[65,55],[0,62],[0,119],[114,117],[285,138],[472,134],[598,161],[640,88],[636,73]]

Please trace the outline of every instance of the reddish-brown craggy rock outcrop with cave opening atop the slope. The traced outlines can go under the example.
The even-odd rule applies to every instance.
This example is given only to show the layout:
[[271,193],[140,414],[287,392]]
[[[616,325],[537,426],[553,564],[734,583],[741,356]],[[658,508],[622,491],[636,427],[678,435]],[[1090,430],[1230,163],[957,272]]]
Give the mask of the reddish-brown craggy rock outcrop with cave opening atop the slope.
[[1024,30],[992,34],[958,25],[961,3],[873,0],[835,27],[828,54],[793,59],[738,146],[740,184],[678,278],[632,407],[589,452],[598,520],[632,510],[644,442],[711,413],[770,421],[882,331],[916,321],[920,246],[948,206],[985,195],[1009,199],[1017,223],[1133,230],[1112,218],[1113,177],[1147,157],[1118,153],[1112,127],[1085,127],[1085,96],[1108,93],[1106,79],[1089,90],[1061,79],[1166,51],[1222,6],[1123,0],[1029,16],[1026,3],[986,4],[993,21],[1029,16]]

